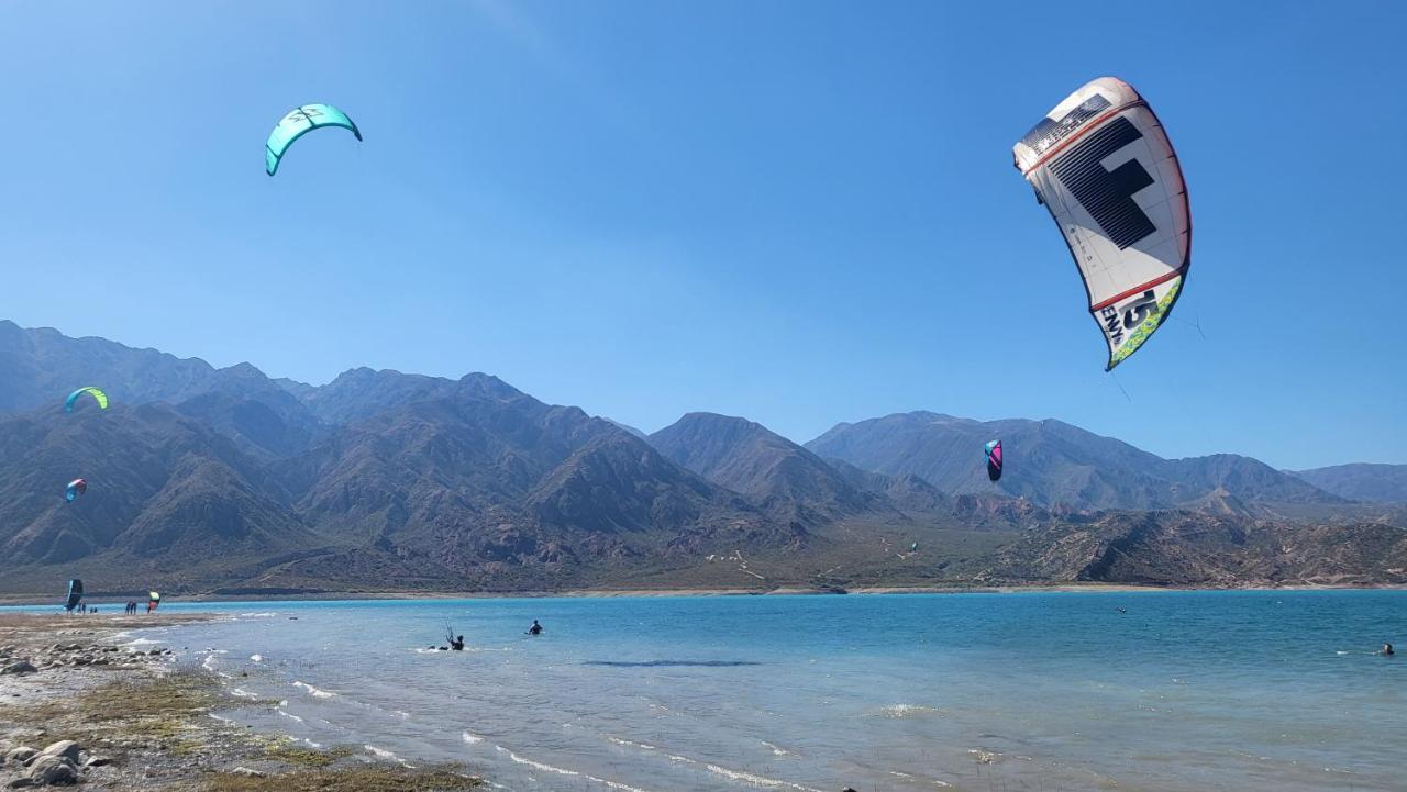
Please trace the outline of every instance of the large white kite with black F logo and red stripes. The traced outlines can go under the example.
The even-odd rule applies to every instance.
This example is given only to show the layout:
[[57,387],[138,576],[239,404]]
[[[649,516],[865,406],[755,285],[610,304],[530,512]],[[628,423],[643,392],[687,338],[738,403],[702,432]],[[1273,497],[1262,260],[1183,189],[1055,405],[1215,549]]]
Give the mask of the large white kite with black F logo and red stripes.
[[1148,103],[1116,77],[1065,97],[1013,153],[1085,279],[1112,370],[1182,294],[1192,210],[1178,155]]

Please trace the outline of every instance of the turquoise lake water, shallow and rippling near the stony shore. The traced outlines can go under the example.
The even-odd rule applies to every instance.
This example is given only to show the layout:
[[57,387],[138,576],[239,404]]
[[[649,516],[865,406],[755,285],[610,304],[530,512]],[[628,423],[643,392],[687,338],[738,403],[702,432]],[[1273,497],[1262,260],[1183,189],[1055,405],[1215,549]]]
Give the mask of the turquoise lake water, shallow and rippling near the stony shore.
[[1401,591],[169,605],[227,716],[514,791],[1407,786]]

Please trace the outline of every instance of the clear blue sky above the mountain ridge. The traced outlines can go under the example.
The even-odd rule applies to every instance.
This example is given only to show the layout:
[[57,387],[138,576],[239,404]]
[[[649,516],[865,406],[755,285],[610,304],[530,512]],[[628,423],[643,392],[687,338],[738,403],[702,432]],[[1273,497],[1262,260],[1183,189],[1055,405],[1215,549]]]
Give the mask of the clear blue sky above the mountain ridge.
[[[1389,1],[7,0],[0,318],[315,384],[488,371],[646,430],[933,409],[1407,463],[1404,28]],[[1162,117],[1196,225],[1117,381],[1010,156],[1100,75]],[[311,101],[366,141],[315,132],[269,179]]]

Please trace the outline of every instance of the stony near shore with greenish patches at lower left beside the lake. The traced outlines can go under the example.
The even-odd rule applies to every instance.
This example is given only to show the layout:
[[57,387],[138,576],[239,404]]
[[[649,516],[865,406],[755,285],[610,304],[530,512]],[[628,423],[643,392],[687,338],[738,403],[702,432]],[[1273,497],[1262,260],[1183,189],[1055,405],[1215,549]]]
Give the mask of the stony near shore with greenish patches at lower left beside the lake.
[[214,715],[270,702],[232,698],[186,653],[128,646],[132,630],[210,618],[0,615],[0,785],[450,792],[481,784],[459,767],[408,768],[238,727]]

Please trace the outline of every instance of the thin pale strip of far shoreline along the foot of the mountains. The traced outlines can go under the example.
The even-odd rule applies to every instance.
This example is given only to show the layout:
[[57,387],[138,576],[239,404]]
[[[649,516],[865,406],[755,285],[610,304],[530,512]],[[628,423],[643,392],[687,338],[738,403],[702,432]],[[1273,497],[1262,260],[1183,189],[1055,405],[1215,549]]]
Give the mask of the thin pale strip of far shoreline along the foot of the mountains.
[[[307,602],[307,601],[356,601],[356,599],[537,599],[550,596],[570,598],[613,598],[613,596],[820,596],[820,595],[875,595],[875,594],[1137,594],[1150,591],[1404,591],[1401,584],[1290,584],[1290,585],[1138,585],[1138,584],[1024,584],[986,587],[905,587],[874,585],[854,588],[639,588],[639,589],[567,589],[567,591],[280,591],[241,594],[193,594],[167,596],[167,602]],[[89,606],[115,608],[129,595],[98,595],[89,599]],[[44,606],[59,608],[58,598],[39,595],[0,595],[0,606]],[[115,613],[115,612],[114,612]]]

